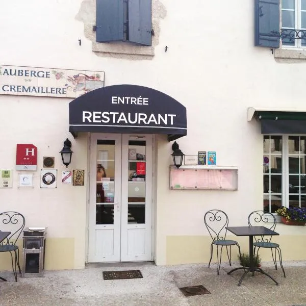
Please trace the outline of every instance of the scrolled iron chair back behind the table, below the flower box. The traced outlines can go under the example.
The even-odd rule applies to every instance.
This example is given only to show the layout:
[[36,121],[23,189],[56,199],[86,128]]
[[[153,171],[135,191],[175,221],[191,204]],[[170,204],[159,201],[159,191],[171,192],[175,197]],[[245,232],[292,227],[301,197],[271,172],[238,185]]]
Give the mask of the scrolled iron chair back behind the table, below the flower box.
[[[254,211],[247,218],[249,226],[263,225],[274,231],[276,227],[276,219],[273,214],[265,211]],[[271,242],[272,236],[255,236],[256,242]]]

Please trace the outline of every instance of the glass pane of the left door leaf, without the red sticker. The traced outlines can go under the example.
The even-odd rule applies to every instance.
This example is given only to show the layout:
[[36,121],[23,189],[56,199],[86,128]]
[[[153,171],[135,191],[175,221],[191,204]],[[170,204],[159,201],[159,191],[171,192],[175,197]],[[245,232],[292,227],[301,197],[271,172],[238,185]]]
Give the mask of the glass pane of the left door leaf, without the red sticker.
[[97,141],[96,224],[114,224],[115,140]]

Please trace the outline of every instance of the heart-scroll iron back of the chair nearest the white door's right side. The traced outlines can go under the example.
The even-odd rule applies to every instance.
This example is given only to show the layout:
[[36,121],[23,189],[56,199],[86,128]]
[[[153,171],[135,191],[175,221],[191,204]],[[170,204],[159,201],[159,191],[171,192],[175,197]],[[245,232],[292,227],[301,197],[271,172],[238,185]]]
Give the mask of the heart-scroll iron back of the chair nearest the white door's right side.
[[204,222],[213,241],[225,240],[228,217],[221,210],[210,210],[204,216]]

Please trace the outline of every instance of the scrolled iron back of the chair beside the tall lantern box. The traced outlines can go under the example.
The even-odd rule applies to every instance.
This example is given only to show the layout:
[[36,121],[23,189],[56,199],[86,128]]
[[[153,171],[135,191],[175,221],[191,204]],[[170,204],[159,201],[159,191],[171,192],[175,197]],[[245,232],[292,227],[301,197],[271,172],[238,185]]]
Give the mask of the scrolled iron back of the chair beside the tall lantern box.
[[17,212],[0,213],[0,232],[11,232],[2,245],[15,245],[24,228],[25,219]]

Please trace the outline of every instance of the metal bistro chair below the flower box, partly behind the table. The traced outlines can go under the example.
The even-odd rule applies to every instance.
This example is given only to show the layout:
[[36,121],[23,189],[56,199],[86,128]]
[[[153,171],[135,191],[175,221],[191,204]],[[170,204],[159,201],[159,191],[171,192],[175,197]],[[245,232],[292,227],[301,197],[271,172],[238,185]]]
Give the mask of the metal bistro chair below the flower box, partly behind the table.
[[[264,211],[254,211],[249,214],[248,216],[248,224],[249,226],[255,226],[255,225],[264,225],[270,230],[274,231],[276,227],[276,219],[273,214],[264,212]],[[270,238],[268,238],[270,237]],[[275,266],[275,270],[277,270],[277,263],[276,263],[276,250],[278,252],[278,258],[279,258],[279,264],[281,265],[281,268],[284,272],[284,277],[286,277],[285,270],[283,267],[283,262],[282,262],[282,251],[281,248],[279,248],[279,244],[271,242],[272,236],[255,236],[253,242],[254,246],[254,258],[258,257],[258,252],[261,247],[263,248],[270,248],[271,253],[272,253],[272,259],[273,263]],[[257,253],[256,253],[256,248]],[[274,254],[273,254],[273,249],[274,249]]]

